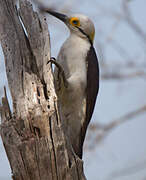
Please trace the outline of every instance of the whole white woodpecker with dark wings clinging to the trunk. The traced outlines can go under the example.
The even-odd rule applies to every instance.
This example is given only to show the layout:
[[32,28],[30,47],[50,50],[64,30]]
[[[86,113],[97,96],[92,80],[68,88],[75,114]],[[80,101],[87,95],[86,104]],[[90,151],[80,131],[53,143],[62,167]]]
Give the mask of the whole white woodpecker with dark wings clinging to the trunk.
[[63,21],[70,31],[63,43],[54,70],[55,89],[59,99],[63,127],[72,148],[80,159],[87,127],[99,90],[99,63],[93,46],[95,27],[83,14],[65,15],[45,12]]

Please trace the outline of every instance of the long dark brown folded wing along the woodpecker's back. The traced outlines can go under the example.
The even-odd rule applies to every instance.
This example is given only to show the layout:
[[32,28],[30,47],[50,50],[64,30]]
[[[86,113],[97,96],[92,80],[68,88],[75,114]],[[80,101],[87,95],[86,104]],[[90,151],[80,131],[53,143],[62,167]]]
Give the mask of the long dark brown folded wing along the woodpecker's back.
[[79,157],[82,158],[82,147],[87,131],[88,124],[91,120],[96,97],[99,89],[99,66],[94,47],[91,45],[87,54],[87,89],[86,89],[86,118],[81,129]]

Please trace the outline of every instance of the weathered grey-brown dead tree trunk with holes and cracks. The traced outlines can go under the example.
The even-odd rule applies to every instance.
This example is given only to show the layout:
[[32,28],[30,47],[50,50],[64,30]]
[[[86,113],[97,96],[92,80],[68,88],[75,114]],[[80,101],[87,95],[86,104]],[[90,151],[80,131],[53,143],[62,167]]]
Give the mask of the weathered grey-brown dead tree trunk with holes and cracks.
[[[62,131],[46,20],[28,0],[0,0],[0,40],[13,113],[2,98],[1,136],[14,180],[84,180],[82,161]],[[23,24],[23,25],[22,25]],[[2,77],[1,77],[2,78]]]

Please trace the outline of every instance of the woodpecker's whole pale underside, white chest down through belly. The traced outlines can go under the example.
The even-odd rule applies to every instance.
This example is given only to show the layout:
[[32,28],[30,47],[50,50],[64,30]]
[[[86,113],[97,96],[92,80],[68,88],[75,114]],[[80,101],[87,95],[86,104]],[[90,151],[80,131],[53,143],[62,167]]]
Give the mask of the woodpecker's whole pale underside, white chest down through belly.
[[[85,119],[87,62],[90,44],[84,39],[70,37],[62,46],[58,62],[62,65],[68,88],[60,94],[65,128],[73,139],[78,135]],[[71,127],[71,129],[70,129]]]

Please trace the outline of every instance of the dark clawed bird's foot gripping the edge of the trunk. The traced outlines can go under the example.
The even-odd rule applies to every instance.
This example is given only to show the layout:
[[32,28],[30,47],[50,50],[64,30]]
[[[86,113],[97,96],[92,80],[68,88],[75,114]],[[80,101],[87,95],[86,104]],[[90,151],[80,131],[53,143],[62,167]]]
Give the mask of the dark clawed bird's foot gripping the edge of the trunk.
[[[54,57],[51,57],[50,60],[47,62],[47,64],[48,63],[54,64],[58,68],[58,76],[60,76],[60,74],[61,74],[64,87],[67,88],[68,87],[68,82],[66,80],[65,73],[64,73],[64,70],[63,70],[62,66],[56,61],[56,59]],[[59,77],[58,77],[58,79],[59,79]]]

